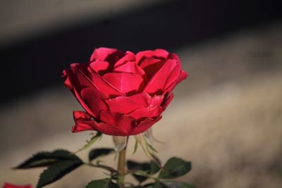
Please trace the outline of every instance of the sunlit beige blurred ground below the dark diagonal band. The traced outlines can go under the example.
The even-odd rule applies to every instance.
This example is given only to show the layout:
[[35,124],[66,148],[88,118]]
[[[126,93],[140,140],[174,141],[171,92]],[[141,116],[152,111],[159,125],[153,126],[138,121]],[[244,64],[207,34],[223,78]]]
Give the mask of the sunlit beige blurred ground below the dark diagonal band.
[[[165,144],[154,144],[162,161],[179,156],[192,161],[181,177],[199,187],[282,186],[282,23],[178,49],[190,76],[154,125]],[[63,84],[1,106],[0,184],[36,184],[38,170],[10,170],[41,150],[75,151],[89,132],[71,133],[72,111],[80,109]],[[139,151],[128,157],[145,161]],[[105,136],[95,146],[112,146]],[[86,159],[86,152],[80,156]],[[114,156],[105,162],[115,165]],[[47,187],[83,187],[104,177],[83,166]]]

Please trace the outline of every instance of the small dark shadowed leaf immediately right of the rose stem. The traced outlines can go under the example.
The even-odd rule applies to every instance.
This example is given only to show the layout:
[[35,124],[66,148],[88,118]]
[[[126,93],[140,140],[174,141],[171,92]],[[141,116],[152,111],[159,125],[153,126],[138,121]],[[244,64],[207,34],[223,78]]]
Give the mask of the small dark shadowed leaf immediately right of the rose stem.
[[[142,170],[142,171],[147,171],[148,173],[151,170],[149,163],[137,163],[135,161],[128,160],[127,165],[129,170]],[[133,174],[133,177],[135,177],[135,179],[140,183],[144,182],[148,178],[146,176],[136,175],[136,174]]]

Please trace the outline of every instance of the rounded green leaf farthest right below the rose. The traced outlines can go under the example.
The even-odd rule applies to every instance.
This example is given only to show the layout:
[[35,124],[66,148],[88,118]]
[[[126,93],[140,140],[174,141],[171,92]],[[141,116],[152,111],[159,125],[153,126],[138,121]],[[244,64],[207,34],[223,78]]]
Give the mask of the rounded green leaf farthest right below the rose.
[[170,158],[159,173],[159,178],[171,179],[185,175],[191,170],[191,163],[181,158]]

